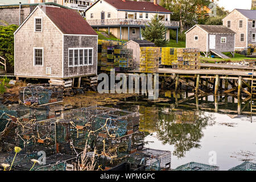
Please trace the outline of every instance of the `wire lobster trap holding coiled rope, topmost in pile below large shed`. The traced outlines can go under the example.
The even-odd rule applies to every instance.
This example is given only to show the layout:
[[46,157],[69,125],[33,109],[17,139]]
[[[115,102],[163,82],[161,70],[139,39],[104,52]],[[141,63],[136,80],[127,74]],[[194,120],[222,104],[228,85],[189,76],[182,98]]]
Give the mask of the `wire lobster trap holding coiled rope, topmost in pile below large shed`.
[[19,101],[28,106],[61,102],[63,90],[63,86],[50,84],[23,86],[19,88]]

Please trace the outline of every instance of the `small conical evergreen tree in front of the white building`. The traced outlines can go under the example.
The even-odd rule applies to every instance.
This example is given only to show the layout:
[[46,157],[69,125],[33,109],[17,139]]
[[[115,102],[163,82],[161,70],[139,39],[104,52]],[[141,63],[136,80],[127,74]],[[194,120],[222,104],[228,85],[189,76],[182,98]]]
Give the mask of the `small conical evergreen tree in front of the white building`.
[[148,26],[142,30],[142,36],[146,40],[154,42],[155,46],[164,47],[167,43],[165,38],[166,31],[166,26],[159,21],[158,15],[155,15],[151,22],[148,23]]

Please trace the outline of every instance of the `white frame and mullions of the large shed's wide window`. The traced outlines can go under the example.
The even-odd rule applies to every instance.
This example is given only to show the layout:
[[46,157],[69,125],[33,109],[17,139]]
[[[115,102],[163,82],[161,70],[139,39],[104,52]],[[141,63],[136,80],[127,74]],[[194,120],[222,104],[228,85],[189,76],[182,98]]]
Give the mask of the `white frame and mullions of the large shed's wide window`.
[[[89,64],[89,49],[92,49],[92,64]],[[73,51],[73,65],[69,64],[69,51]],[[75,65],[75,50],[78,50],[78,64]],[[80,64],[80,50],[82,51],[82,64]],[[85,57],[85,50],[87,50],[87,64],[84,63],[84,57]],[[93,47],[84,47],[84,48],[68,48],[68,67],[81,67],[81,66],[87,66],[87,65],[93,65]]]

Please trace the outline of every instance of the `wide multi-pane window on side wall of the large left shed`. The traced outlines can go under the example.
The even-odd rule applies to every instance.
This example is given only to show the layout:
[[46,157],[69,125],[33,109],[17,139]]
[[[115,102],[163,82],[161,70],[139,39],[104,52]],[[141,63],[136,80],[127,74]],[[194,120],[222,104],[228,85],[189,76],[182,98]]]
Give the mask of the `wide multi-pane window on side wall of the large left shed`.
[[82,66],[93,64],[93,48],[71,48],[68,50],[68,65]]

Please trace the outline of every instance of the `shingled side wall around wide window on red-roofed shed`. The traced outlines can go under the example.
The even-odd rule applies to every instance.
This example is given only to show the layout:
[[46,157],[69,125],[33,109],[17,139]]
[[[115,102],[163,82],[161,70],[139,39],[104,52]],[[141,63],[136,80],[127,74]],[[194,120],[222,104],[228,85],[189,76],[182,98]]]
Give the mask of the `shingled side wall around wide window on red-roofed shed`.
[[[97,75],[97,36],[64,35],[64,78]],[[69,67],[68,48],[93,48],[93,65]]]

